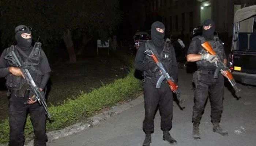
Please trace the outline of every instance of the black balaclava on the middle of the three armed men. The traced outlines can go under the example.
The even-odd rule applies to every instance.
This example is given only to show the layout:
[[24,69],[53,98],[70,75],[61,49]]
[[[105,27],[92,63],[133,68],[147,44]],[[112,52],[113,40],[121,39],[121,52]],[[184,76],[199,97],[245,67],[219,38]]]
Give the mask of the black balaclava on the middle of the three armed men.
[[165,42],[165,32],[161,33],[156,30],[156,28],[165,29],[165,25],[162,22],[156,21],[151,25],[151,39],[157,47],[160,47]]

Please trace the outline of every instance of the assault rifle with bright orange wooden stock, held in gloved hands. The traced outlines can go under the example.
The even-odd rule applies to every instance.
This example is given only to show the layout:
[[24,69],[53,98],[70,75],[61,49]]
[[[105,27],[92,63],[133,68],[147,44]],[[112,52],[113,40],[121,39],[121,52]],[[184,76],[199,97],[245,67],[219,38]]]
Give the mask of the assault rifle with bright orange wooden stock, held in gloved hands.
[[201,44],[201,46],[211,55],[216,55],[218,58],[218,61],[215,62],[217,69],[214,72],[214,78],[218,78],[219,72],[225,71],[227,73],[227,80],[229,80],[231,86],[234,88],[235,92],[240,92],[241,89],[237,88],[236,81],[234,80],[234,77],[229,71],[229,68],[226,67],[226,65],[219,59],[219,56],[216,54],[216,52],[212,49],[211,45],[206,41]]

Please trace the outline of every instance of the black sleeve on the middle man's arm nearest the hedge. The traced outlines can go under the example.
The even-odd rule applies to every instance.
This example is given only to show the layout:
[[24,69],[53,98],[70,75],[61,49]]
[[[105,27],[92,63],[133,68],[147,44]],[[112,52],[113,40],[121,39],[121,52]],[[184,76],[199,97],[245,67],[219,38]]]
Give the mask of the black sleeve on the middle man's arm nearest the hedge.
[[134,61],[134,67],[137,70],[145,71],[149,69],[150,64],[148,62],[144,61],[144,50],[145,50],[145,44],[142,44],[139,46],[139,49],[137,51],[135,61]]

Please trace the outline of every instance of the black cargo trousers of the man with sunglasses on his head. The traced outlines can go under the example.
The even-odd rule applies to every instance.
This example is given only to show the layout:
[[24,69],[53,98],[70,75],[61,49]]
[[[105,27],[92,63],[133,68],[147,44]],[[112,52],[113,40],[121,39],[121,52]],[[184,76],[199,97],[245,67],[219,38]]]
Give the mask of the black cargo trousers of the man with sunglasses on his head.
[[34,128],[34,146],[46,146],[45,122],[46,116],[42,106],[38,103],[24,105],[28,100],[28,91],[25,97],[17,97],[15,92],[11,93],[9,104],[10,142],[9,146],[24,145],[24,126],[27,114]]

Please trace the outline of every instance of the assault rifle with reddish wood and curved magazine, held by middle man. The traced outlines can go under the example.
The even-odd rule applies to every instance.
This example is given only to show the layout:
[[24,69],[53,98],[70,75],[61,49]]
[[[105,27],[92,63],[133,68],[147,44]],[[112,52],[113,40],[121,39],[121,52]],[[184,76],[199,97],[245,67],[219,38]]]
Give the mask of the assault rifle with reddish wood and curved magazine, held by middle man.
[[161,87],[161,83],[164,79],[167,80],[170,89],[172,90],[172,92],[174,92],[176,94],[177,100],[179,101],[181,110],[183,110],[185,108],[184,106],[184,100],[181,99],[180,97],[180,91],[178,91],[177,85],[175,84],[173,77],[169,75],[169,73],[166,72],[165,68],[163,67],[162,62],[160,62],[157,58],[157,56],[152,52],[152,50],[147,49],[144,52],[146,55],[150,56],[153,58],[154,62],[157,64],[157,66],[160,68],[160,72],[162,73],[161,77],[159,77],[158,81],[157,81],[157,85],[156,88],[160,88]]

